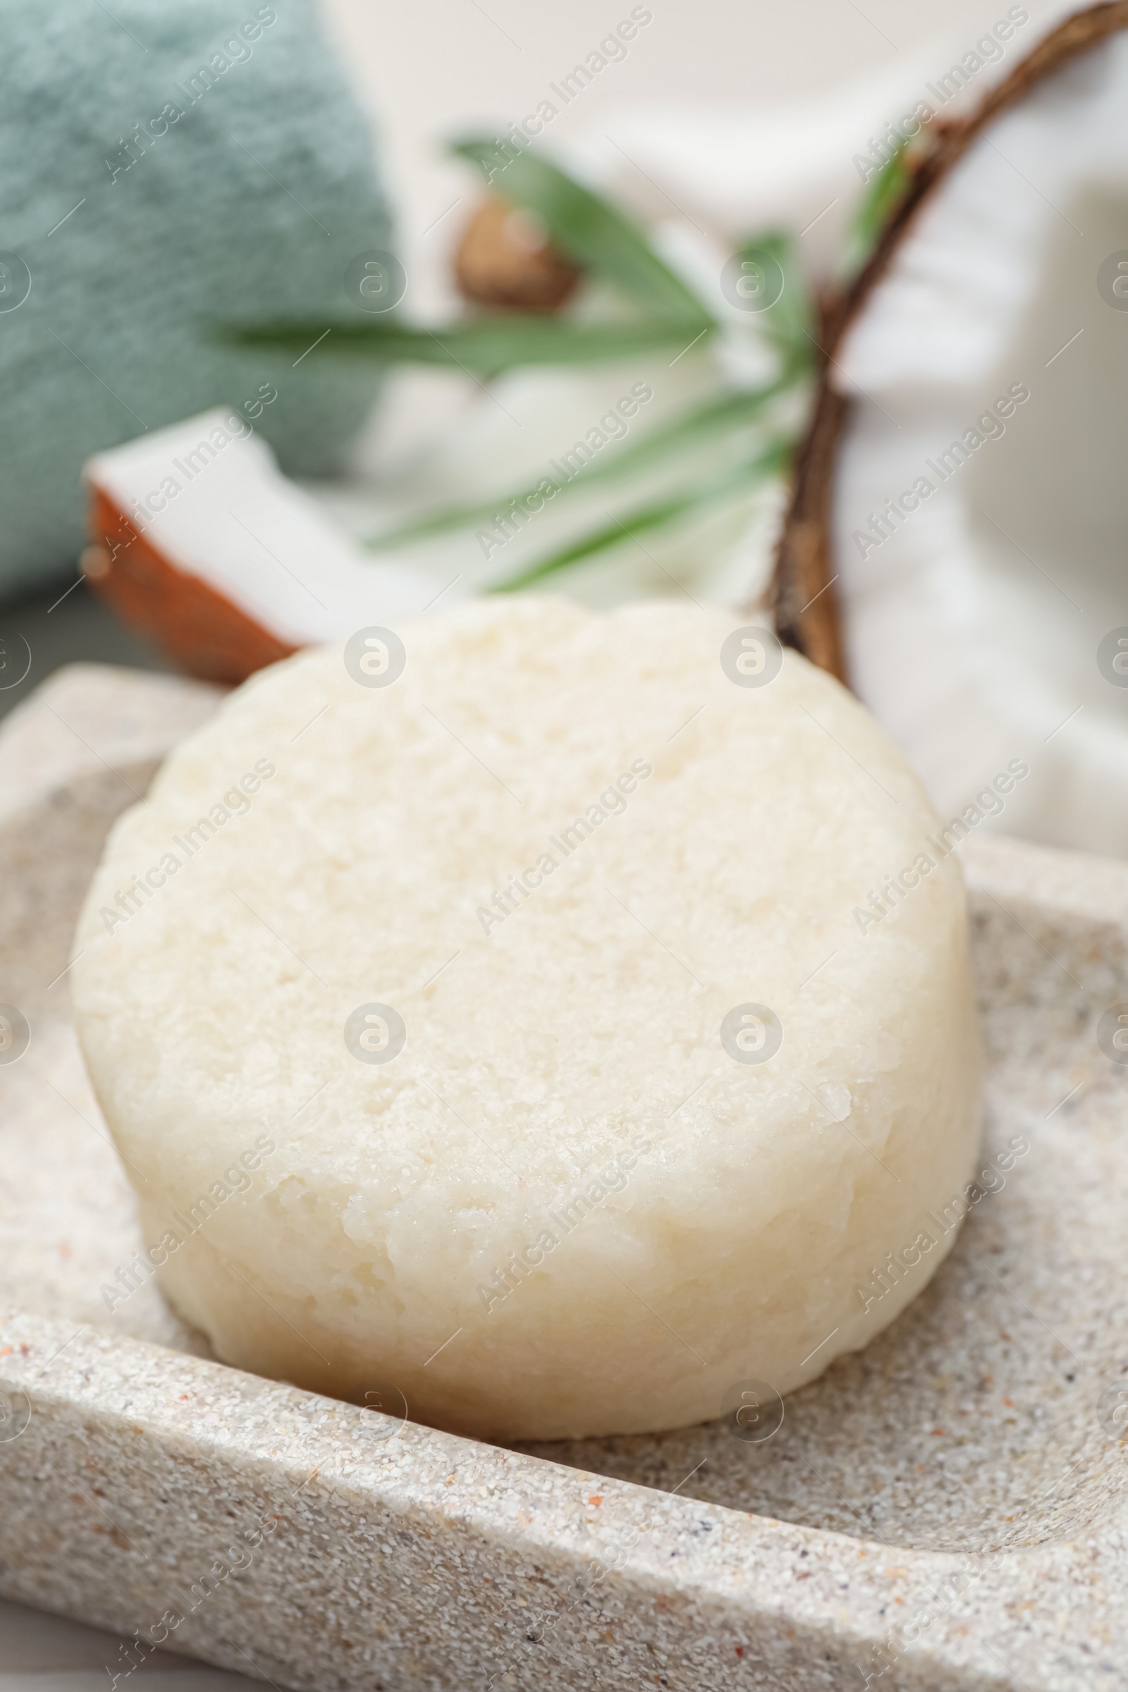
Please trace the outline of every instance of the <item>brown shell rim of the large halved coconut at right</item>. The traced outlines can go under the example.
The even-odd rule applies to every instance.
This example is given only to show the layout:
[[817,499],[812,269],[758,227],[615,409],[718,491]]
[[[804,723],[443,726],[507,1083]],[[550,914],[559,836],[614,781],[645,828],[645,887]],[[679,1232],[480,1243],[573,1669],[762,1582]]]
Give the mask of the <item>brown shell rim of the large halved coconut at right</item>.
[[[1128,0],[1106,0],[1059,24],[993,88],[966,118],[934,122],[913,142],[910,186],[886,223],[862,271],[820,301],[819,386],[807,437],[791,470],[791,496],[776,543],[768,604],[785,646],[847,682],[839,602],[834,589],[832,516],[839,448],[851,401],[834,386],[834,359],[844,335],[890,269],[920,208],[944,184],[974,140],[1077,54],[1128,27]],[[763,602],[761,602],[763,604]],[[758,607],[749,607],[758,609]]]

